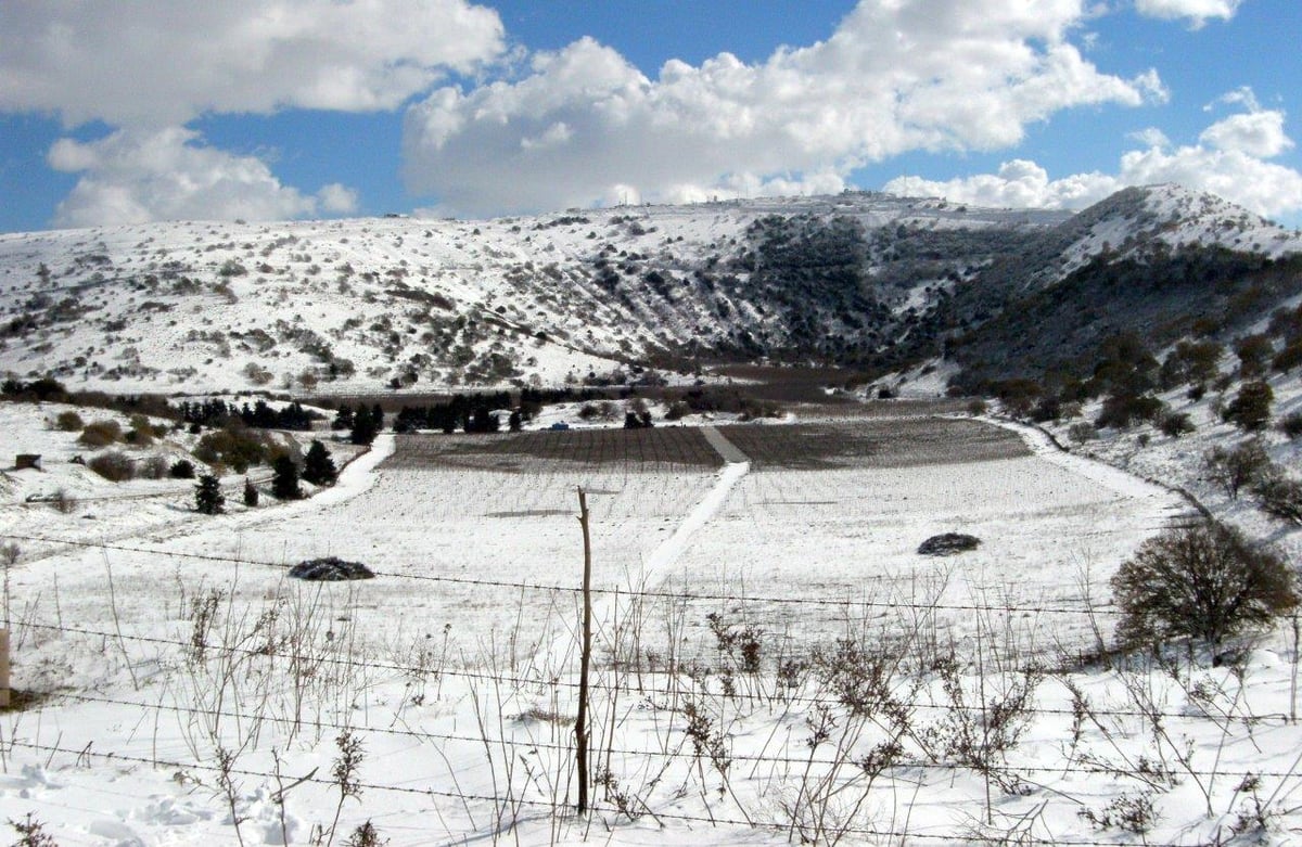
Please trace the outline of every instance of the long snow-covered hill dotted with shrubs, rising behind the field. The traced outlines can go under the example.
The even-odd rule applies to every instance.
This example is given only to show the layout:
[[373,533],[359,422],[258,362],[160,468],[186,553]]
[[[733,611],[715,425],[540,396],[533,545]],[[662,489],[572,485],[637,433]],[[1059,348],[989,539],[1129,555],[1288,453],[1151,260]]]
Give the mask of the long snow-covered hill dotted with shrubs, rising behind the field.
[[[0,235],[0,371],[115,392],[556,385],[693,356],[932,353],[987,267],[1297,233],[1174,186],[1062,212],[875,193],[491,221],[168,222]],[[1022,273],[1022,271],[1019,271]],[[324,385],[328,384],[328,385]]]

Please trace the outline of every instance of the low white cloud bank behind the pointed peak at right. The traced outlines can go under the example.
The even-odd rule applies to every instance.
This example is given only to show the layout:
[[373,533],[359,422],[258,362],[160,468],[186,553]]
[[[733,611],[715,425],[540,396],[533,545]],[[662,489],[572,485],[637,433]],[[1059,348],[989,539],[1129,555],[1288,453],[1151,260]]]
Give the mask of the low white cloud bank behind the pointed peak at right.
[[894,194],[944,196],[979,206],[1083,208],[1131,185],[1178,182],[1211,191],[1259,215],[1302,211],[1302,173],[1268,161],[1293,147],[1284,113],[1258,109],[1220,120],[1195,144],[1174,146],[1161,133],[1139,134],[1148,146],[1121,156],[1117,172],[1078,173],[1051,180],[1031,161],[1005,163],[997,173],[932,181],[900,177],[884,187]]

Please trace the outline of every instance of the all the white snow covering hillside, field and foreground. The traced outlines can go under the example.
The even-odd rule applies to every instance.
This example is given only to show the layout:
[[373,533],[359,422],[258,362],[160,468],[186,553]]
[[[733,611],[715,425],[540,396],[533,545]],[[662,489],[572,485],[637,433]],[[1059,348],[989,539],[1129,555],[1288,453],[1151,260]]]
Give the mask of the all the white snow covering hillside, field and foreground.
[[[0,235],[7,319],[26,307],[42,263],[59,294],[94,307],[10,341],[0,367],[23,373],[81,356],[74,384],[216,392],[247,389],[245,367],[262,363],[273,386],[294,385],[322,364],[311,343],[286,341],[310,325],[333,356],[358,364],[332,390],[366,394],[396,364],[444,345],[423,337],[428,325],[477,362],[533,356],[526,383],[581,381],[621,367],[648,338],[625,329],[628,307],[589,291],[572,265],[609,239],[690,267],[775,211],[849,213],[872,226],[1030,221],[1014,209],[850,194],[608,209],[586,212],[586,222],[178,222]],[[1148,189],[1141,211],[1173,246],[1302,249],[1295,233],[1176,187]],[[1070,262],[1104,242],[1120,249],[1138,226],[1138,217],[1101,222]],[[143,281],[172,262],[202,294]],[[232,262],[249,273],[224,277]],[[363,269],[376,276],[361,278]],[[217,290],[223,281],[229,293]],[[546,294],[529,314],[523,286]],[[906,304],[922,304],[913,294]],[[96,325],[100,312],[138,312],[139,323]],[[268,316],[284,321],[271,351],[249,332]],[[490,329],[467,333],[470,321]],[[660,330],[686,338],[693,328]],[[372,372],[378,337],[392,350]],[[936,398],[952,368],[919,366],[891,385]],[[419,370],[402,392],[464,384],[458,368]],[[1295,380],[1271,383],[1277,414],[1302,410]],[[381,435],[366,451],[331,441],[339,481],[309,487],[309,500],[246,507],[234,496],[243,475],[228,475],[227,513],[215,517],[194,511],[190,480],[109,483],[72,462],[105,450],[172,462],[195,436],[92,450],[52,425],[72,407],[0,403],[7,450],[43,457],[42,470],[0,471],[20,697],[0,713],[0,820],[30,813],[60,844],[96,846],[340,844],[367,821],[395,847],[1294,843],[1302,730],[1288,622],[1236,641],[1224,667],[1199,651],[1176,651],[1161,666],[1108,653],[1117,621],[1108,579],[1146,539],[1187,518],[1177,487],[1290,561],[1302,556],[1302,530],[1203,479],[1203,454],[1241,437],[1213,414],[1217,398],[1164,399],[1193,416],[1195,433],[1105,431],[1066,450],[1034,427],[910,402],[824,412],[816,425],[805,410],[785,427],[689,416],[681,423],[691,428],[673,435],[699,437],[706,461],[488,449],[505,435]],[[548,407],[529,425],[622,422],[618,403],[612,420],[582,422],[581,409]],[[129,427],[117,412],[78,411]],[[652,414],[663,419],[664,409]],[[1070,423],[1048,432],[1069,444]],[[831,444],[814,445],[816,461],[775,455],[766,445],[777,429],[803,446]],[[1273,461],[1302,464],[1302,445],[1263,438]],[[259,484],[267,476],[250,474]],[[581,488],[592,518],[602,774],[587,817],[573,812]],[[66,511],[27,502],[57,491]],[[952,531],[982,544],[945,559],[917,553]],[[296,562],[323,556],[378,576],[286,579]],[[1019,686],[1031,690],[1021,704]],[[363,756],[355,785],[341,790],[336,761],[349,739]],[[1143,834],[1126,829],[1141,824]]]

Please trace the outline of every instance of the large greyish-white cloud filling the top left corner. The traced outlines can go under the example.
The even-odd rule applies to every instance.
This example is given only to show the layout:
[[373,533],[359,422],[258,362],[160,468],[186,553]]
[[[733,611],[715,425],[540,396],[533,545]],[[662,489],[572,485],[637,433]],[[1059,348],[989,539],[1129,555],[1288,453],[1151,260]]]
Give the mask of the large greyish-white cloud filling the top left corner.
[[466,0],[5,0],[0,111],[169,126],[210,112],[392,109],[503,51]]

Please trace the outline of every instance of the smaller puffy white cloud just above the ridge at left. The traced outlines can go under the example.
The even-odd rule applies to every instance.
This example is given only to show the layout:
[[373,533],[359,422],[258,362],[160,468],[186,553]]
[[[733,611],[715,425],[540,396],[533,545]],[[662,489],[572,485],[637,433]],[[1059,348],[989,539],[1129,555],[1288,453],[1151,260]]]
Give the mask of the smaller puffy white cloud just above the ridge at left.
[[94,142],[62,138],[49,167],[82,174],[59,204],[60,226],[158,220],[284,220],[357,207],[353,190],[331,183],[315,196],[281,185],[267,164],[206,147],[194,130],[118,130]]

